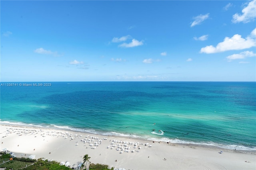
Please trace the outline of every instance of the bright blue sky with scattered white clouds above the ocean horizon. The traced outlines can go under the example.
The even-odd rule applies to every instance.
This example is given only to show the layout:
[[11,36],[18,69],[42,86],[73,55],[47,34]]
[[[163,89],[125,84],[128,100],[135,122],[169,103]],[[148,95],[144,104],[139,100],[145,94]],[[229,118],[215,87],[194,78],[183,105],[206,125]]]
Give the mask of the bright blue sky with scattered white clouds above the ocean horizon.
[[1,77],[256,81],[256,1],[1,1]]

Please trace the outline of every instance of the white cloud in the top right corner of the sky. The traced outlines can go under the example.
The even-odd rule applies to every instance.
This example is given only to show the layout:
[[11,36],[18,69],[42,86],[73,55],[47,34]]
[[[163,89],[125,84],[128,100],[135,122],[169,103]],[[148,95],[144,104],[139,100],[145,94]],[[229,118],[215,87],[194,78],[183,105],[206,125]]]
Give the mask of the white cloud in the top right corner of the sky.
[[233,23],[243,22],[247,23],[250,21],[254,21],[256,18],[256,0],[253,0],[247,4],[244,9],[242,9],[242,14],[234,14],[233,15]]

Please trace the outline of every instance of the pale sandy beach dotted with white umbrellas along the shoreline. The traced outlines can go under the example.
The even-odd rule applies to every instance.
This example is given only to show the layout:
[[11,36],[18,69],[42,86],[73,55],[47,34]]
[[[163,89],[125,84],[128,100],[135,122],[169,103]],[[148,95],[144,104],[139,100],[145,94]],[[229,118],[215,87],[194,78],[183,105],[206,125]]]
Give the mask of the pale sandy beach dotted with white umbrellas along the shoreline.
[[76,168],[88,154],[92,163],[126,170],[256,169],[254,151],[34,127],[1,125],[0,128],[0,150],[8,149],[17,157],[35,155],[35,159],[68,161],[71,168]]

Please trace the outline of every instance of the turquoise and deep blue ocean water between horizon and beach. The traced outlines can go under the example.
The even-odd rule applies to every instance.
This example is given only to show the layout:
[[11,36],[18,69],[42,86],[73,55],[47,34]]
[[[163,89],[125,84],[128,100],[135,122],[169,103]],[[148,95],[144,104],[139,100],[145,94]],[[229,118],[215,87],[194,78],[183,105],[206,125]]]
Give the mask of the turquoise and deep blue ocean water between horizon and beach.
[[50,83],[0,86],[1,124],[256,150],[256,82]]

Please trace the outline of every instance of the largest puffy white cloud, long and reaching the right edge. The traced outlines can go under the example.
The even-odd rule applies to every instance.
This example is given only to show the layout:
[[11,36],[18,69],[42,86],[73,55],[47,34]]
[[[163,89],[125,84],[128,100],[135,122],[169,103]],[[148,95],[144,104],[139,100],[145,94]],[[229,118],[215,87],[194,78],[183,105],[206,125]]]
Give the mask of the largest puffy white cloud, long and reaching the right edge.
[[242,38],[241,35],[236,34],[233,37],[225,37],[224,41],[217,44],[216,47],[212,45],[208,45],[206,47],[201,48],[200,53],[218,53],[228,50],[242,50],[242,49],[248,49],[251,47],[256,46],[255,41],[255,29],[251,32],[251,35],[246,37],[245,39]]

